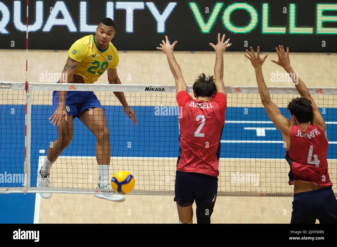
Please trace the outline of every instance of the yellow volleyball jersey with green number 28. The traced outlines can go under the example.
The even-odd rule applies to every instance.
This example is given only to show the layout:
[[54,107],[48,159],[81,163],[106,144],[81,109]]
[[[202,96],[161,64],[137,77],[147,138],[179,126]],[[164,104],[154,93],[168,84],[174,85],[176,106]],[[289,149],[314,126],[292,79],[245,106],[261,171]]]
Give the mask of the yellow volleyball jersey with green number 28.
[[119,62],[116,47],[110,42],[105,50],[101,50],[95,42],[94,35],[88,35],[75,41],[67,54],[80,62],[75,74],[81,75],[84,83],[94,83],[107,69],[115,69]]

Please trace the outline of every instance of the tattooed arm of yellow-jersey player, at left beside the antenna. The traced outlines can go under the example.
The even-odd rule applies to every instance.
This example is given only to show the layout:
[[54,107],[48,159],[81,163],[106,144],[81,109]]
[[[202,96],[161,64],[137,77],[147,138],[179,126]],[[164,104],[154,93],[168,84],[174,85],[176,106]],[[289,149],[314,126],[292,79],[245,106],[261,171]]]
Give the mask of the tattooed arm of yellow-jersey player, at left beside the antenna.
[[[68,81],[71,81],[74,72],[79,64],[80,62],[77,62],[68,56],[67,62],[65,63],[62,71],[62,75],[65,76],[61,76],[59,83],[68,83]],[[52,119],[51,124],[53,125],[60,125],[62,123],[63,118],[66,121],[68,121],[67,119],[68,114],[65,105],[65,97],[67,95],[67,92],[68,91],[59,91],[59,107],[54,112],[54,114],[49,118],[49,120]]]

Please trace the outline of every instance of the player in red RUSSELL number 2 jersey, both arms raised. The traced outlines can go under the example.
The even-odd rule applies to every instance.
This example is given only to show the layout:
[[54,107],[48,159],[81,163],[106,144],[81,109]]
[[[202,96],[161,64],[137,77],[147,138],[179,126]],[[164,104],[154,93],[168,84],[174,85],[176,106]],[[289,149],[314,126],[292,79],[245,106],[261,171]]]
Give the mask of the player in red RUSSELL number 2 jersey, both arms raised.
[[215,49],[214,75],[204,73],[193,84],[193,98],[187,93],[181,69],[173,56],[172,45],[166,42],[157,49],[167,57],[176,81],[177,102],[180,107],[180,148],[175,180],[175,198],[179,223],[192,223],[192,204],[196,203],[197,223],[211,223],[219,175],[220,138],[225,122],[226,91],[223,83],[223,52],[231,44],[220,40]]

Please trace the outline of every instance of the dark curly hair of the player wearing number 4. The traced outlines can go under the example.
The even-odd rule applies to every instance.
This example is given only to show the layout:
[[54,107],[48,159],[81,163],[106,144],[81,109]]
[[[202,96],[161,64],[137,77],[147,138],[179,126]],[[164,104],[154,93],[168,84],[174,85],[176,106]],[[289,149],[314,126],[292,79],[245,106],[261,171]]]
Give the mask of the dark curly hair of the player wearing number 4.
[[313,117],[311,101],[307,98],[294,98],[292,99],[287,107],[290,114],[295,115],[297,121],[300,124],[305,122],[310,122]]

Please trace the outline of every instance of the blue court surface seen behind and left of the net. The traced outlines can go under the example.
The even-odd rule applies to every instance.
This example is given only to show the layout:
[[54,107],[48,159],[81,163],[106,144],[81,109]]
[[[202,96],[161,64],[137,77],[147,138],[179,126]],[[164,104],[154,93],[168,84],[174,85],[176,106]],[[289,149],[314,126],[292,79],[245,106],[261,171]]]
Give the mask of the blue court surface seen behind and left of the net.
[[[15,114],[11,114],[15,109]],[[177,157],[179,149],[178,116],[155,115],[154,107],[135,106],[138,124],[125,115],[120,106],[105,106],[110,129],[112,156]],[[290,113],[280,108],[290,119]],[[31,172],[36,173],[40,150],[47,150],[57,138],[57,128],[48,118],[52,105],[32,106]],[[245,114],[246,113],[246,114]],[[23,173],[25,107],[0,106],[0,174]],[[329,138],[328,159],[337,158],[337,109],[326,108]],[[131,148],[128,148],[131,142]],[[74,119],[73,141],[62,155],[95,156],[96,138],[81,121]],[[221,136],[220,157],[284,158],[282,136],[270,121],[264,108],[228,107]],[[32,178],[31,185],[36,185]],[[23,186],[0,180],[0,187]],[[33,223],[35,194],[0,193],[0,223]]]

